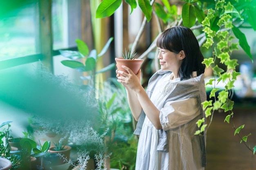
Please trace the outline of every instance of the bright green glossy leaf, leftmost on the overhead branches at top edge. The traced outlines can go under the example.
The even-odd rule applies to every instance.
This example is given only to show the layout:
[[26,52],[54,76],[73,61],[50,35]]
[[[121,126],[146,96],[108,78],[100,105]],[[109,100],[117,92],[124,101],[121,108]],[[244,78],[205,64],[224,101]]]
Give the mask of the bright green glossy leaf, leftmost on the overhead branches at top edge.
[[96,18],[111,16],[121,5],[122,0],[103,0],[96,10]]

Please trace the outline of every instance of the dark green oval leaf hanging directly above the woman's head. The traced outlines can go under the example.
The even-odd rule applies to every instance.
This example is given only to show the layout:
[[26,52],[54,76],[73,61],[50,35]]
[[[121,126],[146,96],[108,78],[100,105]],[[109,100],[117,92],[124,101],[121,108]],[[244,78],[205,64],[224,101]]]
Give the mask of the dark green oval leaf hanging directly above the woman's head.
[[195,24],[195,9],[190,3],[185,3],[182,7],[182,20],[184,26],[191,28]]

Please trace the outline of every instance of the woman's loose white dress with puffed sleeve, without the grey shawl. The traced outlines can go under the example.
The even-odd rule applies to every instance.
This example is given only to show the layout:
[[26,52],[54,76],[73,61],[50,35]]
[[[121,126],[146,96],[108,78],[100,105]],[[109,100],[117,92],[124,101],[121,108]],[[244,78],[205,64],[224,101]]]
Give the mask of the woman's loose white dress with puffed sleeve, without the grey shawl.
[[175,91],[181,82],[179,78],[171,80],[170,76],[173,75],[168,73],[157,80],[150,96],[160,110],[159,118],[167,134],[168,150],[157,150],[158,130],[145,117],[135,170],[204,170],[201,161],[204,141],[202,136],[193,135],[198,130],[195,122],[202,118],[201,101],[197,97],[168,101],[168,94]]

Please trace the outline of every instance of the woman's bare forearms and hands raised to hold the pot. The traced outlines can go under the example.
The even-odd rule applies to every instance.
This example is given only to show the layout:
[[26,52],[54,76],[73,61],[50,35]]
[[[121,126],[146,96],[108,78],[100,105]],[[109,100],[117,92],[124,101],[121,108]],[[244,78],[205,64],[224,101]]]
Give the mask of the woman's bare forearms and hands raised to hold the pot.
[[[141,86],[140,83],[140,74],[141,71],[139,71],[138,76],[136,76],[130,68],[123,66],[128,73],[125,73],[124,71],[117,71],[117,73],[124,75],[124,76],[117,76],[117,81],[122,83],[126,87],[126,91],[129,92],[128,101],[131,101],[130,104],[132,105],[132,108],[134,109],[135,105],[139,103],[141,105],[141,108],[144,110],[145,114],[147,115],[148,119],[151,121],[151,123],[155,126],[156,129],[162,129],[162,125],[160,124],[159,120],[159,113],[160,111],[155,107],[155,105],[151,102],[150,98],[148,97],[146,91]],[[128,95],[127,94],[127,95]],[[135,95],[137,97],[135,97]],[[137,102],[139,101],[139,102]],[[131,110],[132,110],[131,108]],[[141,110],[140,108],[140,110]],[[137,113],[137,112],[136,112]],[[136,114],[137,115],[137,114]],[[139,118],[139,117],[137,117]],[[135,117],[136,119],[136,117]]]

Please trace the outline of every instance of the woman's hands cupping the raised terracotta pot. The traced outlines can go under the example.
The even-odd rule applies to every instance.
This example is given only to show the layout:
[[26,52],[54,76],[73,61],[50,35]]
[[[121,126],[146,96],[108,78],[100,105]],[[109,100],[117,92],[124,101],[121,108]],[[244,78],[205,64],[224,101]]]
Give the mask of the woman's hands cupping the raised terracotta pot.
[[122,66],[128,73],[124,71],[116,70],[117,73],[117,82],[120,82],[126,88],[130,88],[131,90],[137,92],[141,90],[141,69],[139,70],[138,74],[135,75],[130,68],[127,66]]

